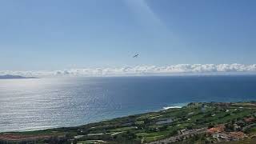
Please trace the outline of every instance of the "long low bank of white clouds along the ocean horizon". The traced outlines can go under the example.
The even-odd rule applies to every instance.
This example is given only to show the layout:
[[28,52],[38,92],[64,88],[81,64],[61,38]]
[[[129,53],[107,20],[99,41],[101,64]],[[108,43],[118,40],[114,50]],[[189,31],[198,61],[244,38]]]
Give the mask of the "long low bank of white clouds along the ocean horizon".
[[52,71],[11,71],[0,74],[22,76],[128,76],[128,75],[171,75],[171,74],[256,74],[256,64],[178,64],[171,66],[122,66],[109,68],[83,68]]

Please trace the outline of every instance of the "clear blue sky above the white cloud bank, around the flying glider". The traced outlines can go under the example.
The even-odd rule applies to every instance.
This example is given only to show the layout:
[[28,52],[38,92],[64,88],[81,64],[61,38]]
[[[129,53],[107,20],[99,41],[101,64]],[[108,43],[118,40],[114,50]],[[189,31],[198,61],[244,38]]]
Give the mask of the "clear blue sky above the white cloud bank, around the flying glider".
[[254,0],[2,0],[0,70],[254,64],[255,6]]

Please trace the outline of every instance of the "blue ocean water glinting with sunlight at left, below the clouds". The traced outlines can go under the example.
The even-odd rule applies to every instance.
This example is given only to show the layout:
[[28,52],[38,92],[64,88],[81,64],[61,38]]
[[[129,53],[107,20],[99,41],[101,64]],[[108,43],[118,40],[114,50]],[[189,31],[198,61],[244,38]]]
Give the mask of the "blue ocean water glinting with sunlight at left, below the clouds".
[[189,102],[256,100],[256,76],[0,80],[0,132],[80,126]]

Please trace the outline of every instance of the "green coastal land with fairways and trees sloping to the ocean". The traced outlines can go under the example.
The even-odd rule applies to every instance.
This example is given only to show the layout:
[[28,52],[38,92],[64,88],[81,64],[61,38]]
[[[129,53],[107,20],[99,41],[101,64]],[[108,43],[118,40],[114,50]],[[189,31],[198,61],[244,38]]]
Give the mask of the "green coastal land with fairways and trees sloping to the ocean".
[[[122,143],[123,138],[130,137],[126,141],[135,143],[176,142],[185,141],[184,137],[189,136],[188,134],[192,134],[189,138],[198,135],[199,138],[212,139],[215,132],[208,134],[211,127],[226,126],[227,124],[235,126],[239,122],[245,123],[241,129],[231,130],[231,132],[223,129],[216,134],[226,134],[227,138],[233,138],[232,134],[240,134],[241,139],[233,138],[232,141],[248,139],[254,135],[250,129],[254,130],[254,126],[256,126],[256,102],[191,102],[182,107],[168,107],[170,109],[134,114],[83,126],[0,133],[0,142],[6,140],[20,142],[30,139],[46,142],[53,137],[65,139],[67,142],[101,140]],[[234,124],[230,122],[234,122]],[[223,141],[222,139],[212,140]],[[205,141],[208,140],[205,139]]]

